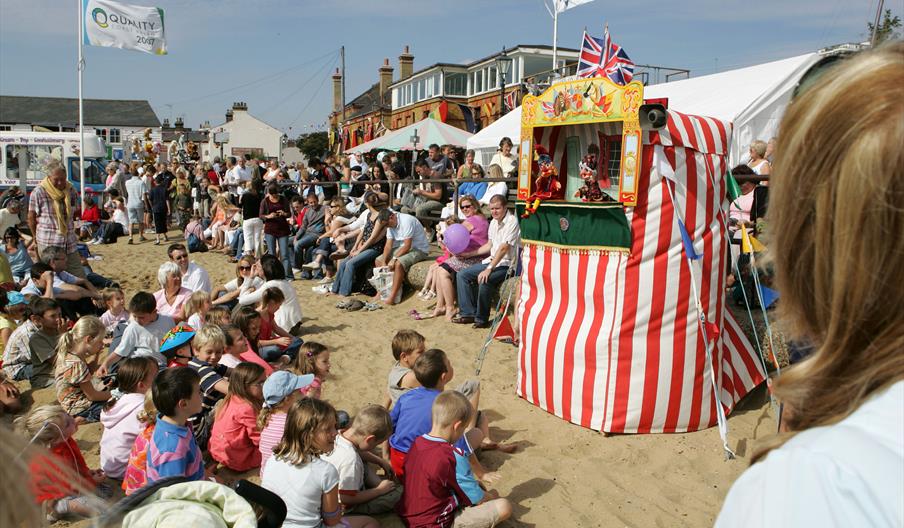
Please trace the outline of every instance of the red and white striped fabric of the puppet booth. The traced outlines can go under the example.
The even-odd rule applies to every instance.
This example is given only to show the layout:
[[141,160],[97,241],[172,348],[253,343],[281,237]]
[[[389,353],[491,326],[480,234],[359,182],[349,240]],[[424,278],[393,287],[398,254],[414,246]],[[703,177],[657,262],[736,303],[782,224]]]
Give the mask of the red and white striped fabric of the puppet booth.
[[[565,174],[565,138],[587,145],[612,126],[536,128],[534,140]],[[764,380],[724,305],[730,137],[726,122],[674,111],[665,128],[643,133],[637,205],[624,208],[629,251],[525,241],[519,396],[598,431],[671,433],[716,425],[717,405],[728,414]],[[678,218],[700,260],[686,258]]]

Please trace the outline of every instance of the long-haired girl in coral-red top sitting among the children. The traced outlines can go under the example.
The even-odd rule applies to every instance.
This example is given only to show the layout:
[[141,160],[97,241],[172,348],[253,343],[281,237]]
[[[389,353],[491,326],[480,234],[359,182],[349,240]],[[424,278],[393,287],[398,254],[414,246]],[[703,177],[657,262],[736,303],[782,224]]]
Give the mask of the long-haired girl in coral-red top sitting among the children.
[[210,431],[210,456],[233,471],[261,465],[257,415],[264,401],[266,375],[260,365],[239,363],[229,375],[229,390],[219,404]]

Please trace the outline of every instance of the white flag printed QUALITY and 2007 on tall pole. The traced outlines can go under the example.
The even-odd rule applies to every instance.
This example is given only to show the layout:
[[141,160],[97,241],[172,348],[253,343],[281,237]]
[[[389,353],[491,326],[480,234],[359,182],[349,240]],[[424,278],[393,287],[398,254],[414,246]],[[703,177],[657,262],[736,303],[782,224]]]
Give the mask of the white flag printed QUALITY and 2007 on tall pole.
[[111,0],[82,0],[82,8],[85,44],[166,55],[163,9]]

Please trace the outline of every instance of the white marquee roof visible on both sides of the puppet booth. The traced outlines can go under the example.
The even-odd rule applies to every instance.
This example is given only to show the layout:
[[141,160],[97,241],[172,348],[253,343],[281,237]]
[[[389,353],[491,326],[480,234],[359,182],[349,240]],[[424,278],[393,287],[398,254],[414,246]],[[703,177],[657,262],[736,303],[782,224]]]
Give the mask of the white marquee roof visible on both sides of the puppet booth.
[[[671,110],[732,123],[734,132],[729,161],[737,164],[746,161],[751,141],[766,141],[778,135],[778,125],[791,99],[791,92],[819,58],[818,53],[808,53],[713,75],[647,86],[644,98],[664,97],[669,100]],[[520,135],[519,106],[471,137],[468,148],[492,148],[495,151],[503,137]]]

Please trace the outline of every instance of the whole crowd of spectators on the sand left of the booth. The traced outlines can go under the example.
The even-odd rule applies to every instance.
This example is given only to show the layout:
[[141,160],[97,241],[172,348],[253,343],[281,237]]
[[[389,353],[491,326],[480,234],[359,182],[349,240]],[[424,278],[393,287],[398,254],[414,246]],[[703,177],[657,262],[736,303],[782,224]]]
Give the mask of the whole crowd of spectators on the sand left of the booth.
[[[488,326],[518,222],[505,183],[481,181],[473,153],[463,154],[431,146],[414,163],[423,181],[398,185],[379,181],[407,172],[392,153],[311,160],[311,169],[232,158],[192,171],[111,163],[104,196],[81,211],[65,170],[52,167],[24,223],[21,200],[8,196],[0,402],[19,411],[20,381],[56,392],[56,404],[16,420],[23,437],[72,469],[32,462],[48,518],[97,515],[111,486],[128,495],[172,476],[231,483],[239,474],[260,475],[285,502],[287,525],[378,526],[370,515],[397,512],[409,524],[493,526],[510,516],[492,491],[498,475],[477,458],[512,450],[489,438],[479,382],[445,391],[454,372],[445,353],[403,330],[389,347],[385,404],[337,412],[325,387],[330,348],[305,335],[292,282],[316,281],[340,307],[356,293],[394,304],[411,267],[433,258],[424,291],[442,288],[431,296],[443,303],[437,314]],[[443,178],[455,181],[430,181]],[[443,242],[455,223],[472,232],[457,255]],[[183,240],[171,240],[174,227]],[[167,244],[156,291],[127,294],[82,256],[151,234]],[[235,279],[213,286],[192,259],[207,251],[234,262]],[[392,277],[386,291],[367,280],[375,268]],[[101,467],[91,470],[72,434],[93,422],[104,430]]]

